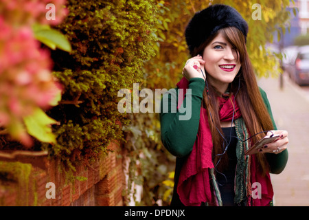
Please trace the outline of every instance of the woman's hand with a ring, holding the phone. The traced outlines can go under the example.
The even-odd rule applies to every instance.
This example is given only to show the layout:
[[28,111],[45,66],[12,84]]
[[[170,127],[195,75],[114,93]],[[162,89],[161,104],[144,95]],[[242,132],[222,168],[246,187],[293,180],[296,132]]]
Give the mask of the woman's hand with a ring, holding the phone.
[[273,142],[264,145],[264,148],[261,148],[259,151],[260,153],[281,153],[288,147],[288,131],[275,131],[273,130],[272,132],[267,133],[267,136],[270,135],[277,135],[279,134],[278,139]]

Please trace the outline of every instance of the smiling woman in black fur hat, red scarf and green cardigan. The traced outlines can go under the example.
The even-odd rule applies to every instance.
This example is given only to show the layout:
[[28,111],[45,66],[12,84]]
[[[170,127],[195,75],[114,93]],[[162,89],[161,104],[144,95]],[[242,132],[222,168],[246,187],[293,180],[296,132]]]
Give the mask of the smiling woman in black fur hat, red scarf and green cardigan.
[[[269,173],[286,166],[288,133],[277,131],[266,94],[256,83],[247,32],[246,21],[227,5],[196,12],[187,25],[192,58],[176,87],[183,93],[166,93],[160,113],[162,142],[176,155],[172,206],[272,204]],[[179,120],[190,104],[187,98],[191,117]],[[166,105],[169,111],[163,112]],[[275,142],[244,155],[262,137],[275,134]]]

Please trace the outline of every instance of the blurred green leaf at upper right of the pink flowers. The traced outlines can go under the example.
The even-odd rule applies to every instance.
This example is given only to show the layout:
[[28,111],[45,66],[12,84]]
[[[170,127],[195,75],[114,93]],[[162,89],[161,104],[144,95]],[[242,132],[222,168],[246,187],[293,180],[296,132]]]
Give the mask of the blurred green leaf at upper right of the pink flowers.
[[34,25],[34,37],[50,47],[52,50],[59,48],[66,52],[71,52],[71,44],[67,40],[64,34],[58,30],[49,28],[48,26]]

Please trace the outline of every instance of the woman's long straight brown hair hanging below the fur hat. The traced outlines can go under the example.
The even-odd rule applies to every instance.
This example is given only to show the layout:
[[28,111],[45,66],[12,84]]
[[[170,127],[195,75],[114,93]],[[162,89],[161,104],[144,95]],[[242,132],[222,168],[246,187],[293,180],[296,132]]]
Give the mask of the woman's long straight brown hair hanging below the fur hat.
[[[237,54],[238,58],[240,59],[241,67],[236,78],[230,85],[230,91],[233,94],[236,94],[236,92],[238,92],[236,96],[236,101],[238,102],[238,105],[240,107],[242,118],[244,119],[244,122],[247,126],[249,135],[254,135],[255,133],[259,133],[261,131],[272,130],[273,123],[260,94],[260,89],[255,79],[253,67],[251,65],[251,61],[247,52],[244,35],[242,34],[242,32],[240,32],[240,30],[233,27],[222,28],[218,30],[216,34],[209,37],[207,41],[205,41],[205,43],[203,43],[200,47],[194,50],[193,55],[196,56],[198,54],[203,54],[203,50],[205,49],[205,47],[209,43],[211,43],[211,41],[216,36],[218,36],[219,33],[221,33],[222,36],[229,43],[231,43],[232,47],[235,47],[236,51],[238,52]],[[222,134],[223,132],[220,126],[220,119],[218,115],[217,96],[218,91],[216,91],[216,89],[211,86],[210,83],[208,83],[208,88],[205,87],[205,90],[203,92],[203,107],[205,107],[205,109],[207,110],[209,127],[211,129],[211,138],[214,146],[212,151],[212,157],[215,165],[220,159],[217,169],[224,170],[225,168],[227,168],[228,158],[227,153],[222,155],[225,148],[225,143],[220,135],[220,133]],[[218,131],[220,131],[220,133]],[[255,135],[254,137],[252,137],[252,143],[257,142],[262,137],[264,137],[263,133]],[[222,157],[218,155],[222,155]],[[262,173],[265,174],[266,171],[268,171],[269,167],[264,154],[258,153],[256,154],[256,158],[258,159],[258,168],[260,168]]]

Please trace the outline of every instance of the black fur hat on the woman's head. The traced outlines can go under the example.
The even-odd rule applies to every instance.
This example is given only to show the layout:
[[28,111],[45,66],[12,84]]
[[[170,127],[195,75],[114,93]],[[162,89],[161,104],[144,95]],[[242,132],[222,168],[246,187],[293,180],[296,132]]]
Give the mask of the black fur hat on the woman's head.
[[247,39],[248,24],[235,8],[229,5],[210,5],[196,12],[185,29],[185,39],[193,56],[194,49],[221,28],[236,27]]

